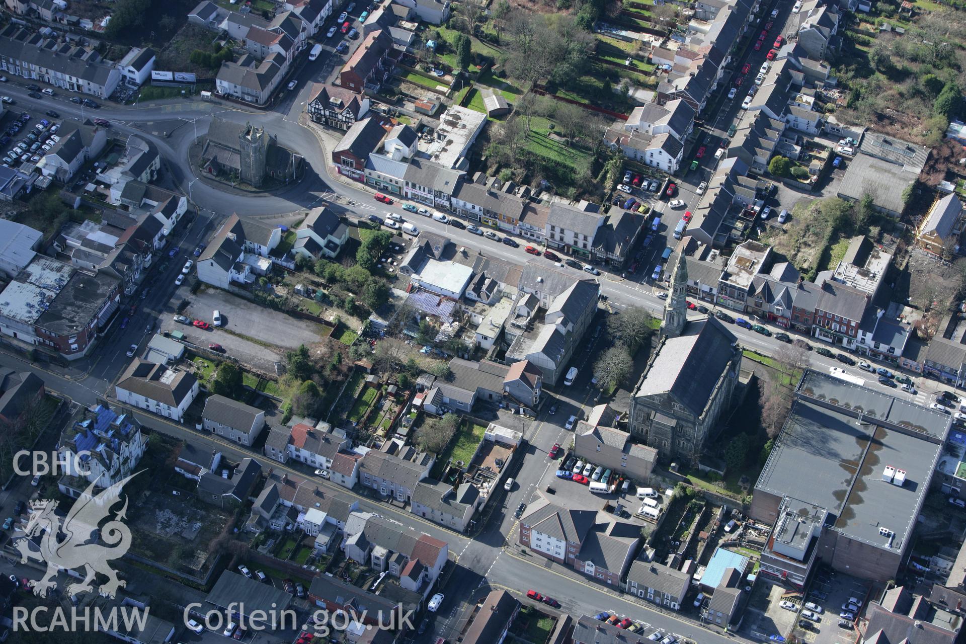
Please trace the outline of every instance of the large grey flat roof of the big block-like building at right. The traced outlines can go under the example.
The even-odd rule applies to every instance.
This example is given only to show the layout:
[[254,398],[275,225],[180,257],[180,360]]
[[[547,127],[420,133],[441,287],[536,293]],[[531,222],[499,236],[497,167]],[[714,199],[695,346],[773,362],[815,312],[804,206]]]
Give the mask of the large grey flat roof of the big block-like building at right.
[[[807,374],[800,391],[812,396],[820,392],[833,405],[863,406],[866,413],[860,423],[858,414],[843,407],[800,396],[755,490],[825,508],[828,523],[843,535],[901,551],[919,515],[945,434],[919,434],[875,423],[895,413],[895,419],[912,417],[935,427],[935,421],[920,416],[936,412],[919,407],[919,414],[891,396],[815,372]],[[893,409],[895,403],[901,405]],[[867,415],[873,411],[875,417]],[[882,480],[886,465],[905,470],[903,486]],[[880,527],[894,536],[880,534]]]

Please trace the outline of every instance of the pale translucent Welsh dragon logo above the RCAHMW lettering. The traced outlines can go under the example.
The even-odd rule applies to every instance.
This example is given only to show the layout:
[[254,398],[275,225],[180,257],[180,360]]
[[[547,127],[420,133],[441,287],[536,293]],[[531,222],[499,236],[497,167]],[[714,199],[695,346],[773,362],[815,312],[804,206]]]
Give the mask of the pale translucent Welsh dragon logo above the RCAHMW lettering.
[[[64,518],[56,514],[58,502],[53,499],[38,499],[30,502],[30,518],[24,532],[26,537],[16,542],[20,551],[20,563],[28,559],[46,562],[47,570],[40,580],[31,582],[34,594],[46,597],[57,587],[54,580],[61,569],[76,570],[84,568],[86,576],[80,583],[72,583],[67,587],[70,595],[88,593],[93,590],[91,582],[95,574],[103,574],[108,578],[101,584],[100,594],[114,598],[120,587],[126,586],[127,581],[118,579],[117,573],[108,565],[111,559],[123,557],[130,547],[130,529],[122,521],[126,518],[128,498],[125,497],[124,507],[115,513],[102,526],[101,521],[109,518],[111,507],[121,500],[121,490],[137,474],[131,474],[126,479],[101,490],[94,495],[93,482],[80,495],[71,507],[71,512]],[[91,532],[99,529],[100,542],[107,544],[85,543],[90,540]],[[34,546],[32,539],[43,533],[40,541],[40,551]]]

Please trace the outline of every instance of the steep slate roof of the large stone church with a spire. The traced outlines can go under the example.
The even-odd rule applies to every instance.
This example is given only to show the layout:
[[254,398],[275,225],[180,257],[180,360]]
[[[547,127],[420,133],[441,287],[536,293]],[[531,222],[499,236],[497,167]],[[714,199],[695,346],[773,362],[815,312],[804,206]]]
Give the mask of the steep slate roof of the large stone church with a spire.
[[[695,325],[696,332],[691,332]],[[736,339],[715,318],[689,322],[685,330],[686,335],[662,342],[644,371],[635,396],[669,393],[699,416],[735,354]]]

